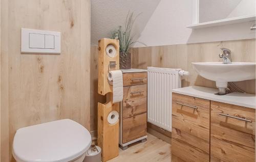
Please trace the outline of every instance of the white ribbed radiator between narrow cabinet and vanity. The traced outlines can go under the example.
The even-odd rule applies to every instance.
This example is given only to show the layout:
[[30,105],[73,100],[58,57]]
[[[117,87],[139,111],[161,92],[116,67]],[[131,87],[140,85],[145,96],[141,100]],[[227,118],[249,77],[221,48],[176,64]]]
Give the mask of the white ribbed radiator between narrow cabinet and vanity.
[[181,88],[181,69],[147,67],[147,121],[172,131],[172,90]]

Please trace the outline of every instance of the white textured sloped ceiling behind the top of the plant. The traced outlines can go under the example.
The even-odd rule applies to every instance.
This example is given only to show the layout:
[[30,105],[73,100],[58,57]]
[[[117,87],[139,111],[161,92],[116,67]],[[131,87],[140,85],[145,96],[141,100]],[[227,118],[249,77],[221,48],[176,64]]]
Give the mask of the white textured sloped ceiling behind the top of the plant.
[[92,0],[91,1],[91,44],[98,44],[101,38],[123,25],[127,13],[141,13],[134,25],[135,40],[139,38],[147,21],[152,16],[160,0]]

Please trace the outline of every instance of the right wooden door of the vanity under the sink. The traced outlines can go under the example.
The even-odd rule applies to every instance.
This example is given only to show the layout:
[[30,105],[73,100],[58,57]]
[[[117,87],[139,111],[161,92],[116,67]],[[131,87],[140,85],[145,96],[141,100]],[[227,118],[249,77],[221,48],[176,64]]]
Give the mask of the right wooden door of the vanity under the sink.
[[210,129],[211,161],[255,161],[255,109],[211,101]]

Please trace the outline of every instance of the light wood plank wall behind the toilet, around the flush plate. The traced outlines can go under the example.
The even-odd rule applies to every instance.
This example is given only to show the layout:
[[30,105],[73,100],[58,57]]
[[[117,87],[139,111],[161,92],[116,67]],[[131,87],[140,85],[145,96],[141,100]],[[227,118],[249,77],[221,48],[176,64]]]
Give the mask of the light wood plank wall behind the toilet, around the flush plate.
[[[18,128],[73,119],[90,130],[90,1],[1,0],[1,161]],[[61,32],[60,55],[20,53],[20,28]]]

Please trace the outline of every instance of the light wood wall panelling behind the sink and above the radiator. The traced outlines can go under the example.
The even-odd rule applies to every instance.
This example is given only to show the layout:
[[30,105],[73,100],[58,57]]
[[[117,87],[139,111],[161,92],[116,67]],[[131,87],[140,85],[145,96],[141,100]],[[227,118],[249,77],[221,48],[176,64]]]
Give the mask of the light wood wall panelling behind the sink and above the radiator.
[[[229,48],[233,62],[255,62],[255,39],[177,44],[165,46],[133,48],[133,68],[146,69],[147,66],[182,68],[190,75],[182,79],[182,87],[203,86],[216,88],[215,82],[196,73],[191,62],[221,61],[221,47]],[[234,83],[247,93],[255,94],[255,79]]]

